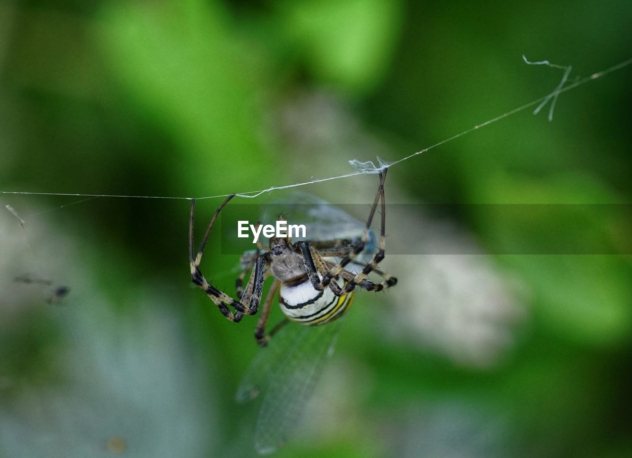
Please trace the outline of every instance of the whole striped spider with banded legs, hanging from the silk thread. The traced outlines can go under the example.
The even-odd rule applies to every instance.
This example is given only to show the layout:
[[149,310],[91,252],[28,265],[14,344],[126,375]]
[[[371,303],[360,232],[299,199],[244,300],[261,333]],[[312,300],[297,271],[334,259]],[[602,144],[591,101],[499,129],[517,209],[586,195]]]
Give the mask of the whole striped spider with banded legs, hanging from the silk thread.
[[[269,247],[264,247],[257,242],[257,250],[252,254],[242,256],[245,260],[245,268],[236,279],[236,293],[238,299],[233,299],[224,292],[218,290],[209,283],[200,271],[200,262],[204,247],[209,238],[217,216],[222,208],[234,197],[229,195],[224,202],[217,207],[207,227],[204,238],[200,243],[197,256],[193,252],[193,214],[195,211],[195,199],[191,199],[191,214],[189,219],[189,261],[191,267],[191,279],[209,296],[219,311],[230,321],[238,323],[244,315],[254,315],[259,309],[264,281],[272,275],[274,283],[265,297],[262,313],[255,328],[255,340],[261,346],[265,346],[270,338],[281,326],[288,321],[295,321],[301,325],[324,325],[342,316],[348,311],[353,302],[356,287],[368,291],[381,291],[392,287],[397,279],[377,266],[384,259],[385,246],[385,220],[386,204],[384,202],[384,180],[386,170],[379,174],[380,185],[375,195],[375,201],[368,216],[367,225],[360,238],[356,240],[327,240],[305,241],[292,243],[289,237],[270,238]],[[367,244],[371,221],[381,201],[382,224],[380,228],[379,249],[375,252],[371,261],[367,264],[356,261],[356,257],[364,251]],[[257,223],[258,224],[258,223]],[[340,257],[337,263],[332,263],[324,258]],[[363,266],[359,273],[352,273],[345,269],[349,263]],[[252,270],[250,280],[243,288],[243,280],[248,271]],[[380,283],[374,283],[367,279],[370,272],[375,272],[383,279]],[[272,301],[277,291],[279,292],[279,304],[286,319],[281,321],[272,331],[265,332]],[[232,307],[234,312],[229,309]]]

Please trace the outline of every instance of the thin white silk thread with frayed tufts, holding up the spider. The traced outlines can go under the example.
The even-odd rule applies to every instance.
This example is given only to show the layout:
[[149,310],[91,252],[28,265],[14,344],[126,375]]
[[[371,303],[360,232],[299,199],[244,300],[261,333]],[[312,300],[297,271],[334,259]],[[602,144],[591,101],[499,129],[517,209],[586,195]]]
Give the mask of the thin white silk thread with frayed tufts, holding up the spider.
[[[522,56],[523,60],[525,61],[525,63],[527,65],[545,65],[545,66],[550,66],[552,68],[557,68],[560,70],[564,70],[564,75],[561,79],[561,81],[559,82],[559,84],[557,85],[557,87],[550,92],[549,94],[547,94],[546,96],[540,97],[539,99],[536,99],[534,101],[528,102],[522,106],[519,106],[518,108],[514,108],[510,111],[507,111],[506,113],[502,113],[499,116],[495,116],[495,118],[491,118],[490,120],[484,121],[482,123],[479,123],[477,125],[475,125],[474,127],[470,127],[466,130],[464,130],[463,132],[460,133],[456,133],[456,135],[453,135],[451,137],[447,137],[447,139],[441,140],[440,142],[437,142],[433,145],[430,145],[428,147],[425,147],[423,149],[421,149],[420,151],[416,151],[413,152],[412,154],[409,154],[408,156],[405,156],[401,159],[398,159],[396,161],[392,161],[392,162],[384,162],[382,161],[382,159],[377,158],[377,165],[373,162],[373,161],[365,161],[365,162],[361,162],[358,161],[358,159],[351,159],[349,160],[349,165],[354,169],[354,171],[351,171],[349,173],[345,173],[343,175],[336,175],[336,176],[330,176],[329,178],[312,178],[312,180],[306,181],[306,182],[299,182],[299,183],[293,183],[293,184],[289,184],[289,185],[283,185],[283,186],[270,186],[266,189],[259,189],[259,190],[252,190],[252,191],[243,191],[243,192],[237,192],[234,193],[236,194],[236,197],[243,197],[243,198],[247,198],[247,199],[252,199],[254,197],[258,197],[259,195],[265,194],[265,193],[269,193],[272,192],[274,190],[281,190],[281,189],[291,189],[291,188],[298,188],[298,187],[302,187],[302,186],[307,186],[307,185],[312,185],[315,183],[324,183],[324,182],[330,182],[332,180],[341,180],[342,178],[349,178],[351,176],[356,176],[356,175],[367,175],[367,174],[375,174],[375,173],[379,173],[382,170],[386,170],[387,168],[391,168],[392,166],[399,164],[399,163],[403,163],[404,161],[408,161],[408,159],[414,158],[415,156],[418,156],[420,154],[423,154],[424,152],[430,151],[431,149],[435,149],[436,147],[439,147],[441,145],[444,145],[448,142],[452,142],[453,140],[456,140],[460,137],[463,137],[464,135],[468,135],[472,132],[475,132],[476,130],[480,130],[483,127],[487,127],[489,125],[492,125],[494,123],[497,123],[498,121],[501,121],[505,118],[508,118],[509,116],[513,116],[516,113],[520,113],[521,111],[525,111],[528,108],[531,108],[533,106],[537,106],[537,108],[535,108],[535,110],[533,111],[533,114],[538,114],[540,112],[540,110],[542,108],[544,108],[544,106],[546,106],[547,103],[550,102],[550,108],[549,108],[549,121],[552,121],[553,119],[553,111],[555,109],[556,106],[556,102],[557,99],[559,98],[559,95],[567,92],[569,90],[572,89],[576,89],[577,87],[580,87],[581,85],[584,85],[588,82],[592,82],[595,80],[599,80],[603,77],[605,77],[606,75],[609,75],[610,73],[613,73],[614,71],[618,71],[621,70],[629,65],[632,65],[632,58],[629,58],[625,61],[622,61],[616,65],[612,65],[609,68],[606,68],[605,70],[601,70],[601,71],[597,71],[596,73],[592,73],[592,75],[588,76],[588,77],[583,77],[583,78],[576,78],[576,80],[574,80],[574,82],[571,82],[570,84],[566,85],[566,83],[568,82],[568,77],[571,73],[572,67],[569,66],[562,66],[562,65],[557,65],[557,64],[552,64],[549,61],[528,61],[526,59],[525,56]],[[28,192],[28,191],[0,191],[0,194],[21,194],[21,195],[66,195],[66,196],[75,196],[75,197],[87,197],[87,199],[82,199],[81,201],[77,201],[77,202],[71,202],[70,204],[64,204],[63,206],[59,206],[59,207],[54,207],[52,209],[49,209],[47,211],[52,211],[52,210],[56,210],[56,209],[60,209],[63,207],[67,207],[70,205],[74,205],[74,204],[78,204],[80,202],[85,202],[91,199],[96,199],[97,197],[118,197],[118,198],[135,198],[135,199],[183,199],[183,200],[191,200],[191,199],[197,199],[197,200],[202,200],[202,199],[215,199],[215,198],[219,198],[219,197],[228,197],[228,195],[231,194],[218,194],[218,195],[207,195],[207,196],[202,196],[202,197],[179,197],[179,196],[161,196],[161,195],[118,195],[118,194],[79,194],[79,193],[63,193],[63,192]],[[42,212],[44,213],[44,212]]]

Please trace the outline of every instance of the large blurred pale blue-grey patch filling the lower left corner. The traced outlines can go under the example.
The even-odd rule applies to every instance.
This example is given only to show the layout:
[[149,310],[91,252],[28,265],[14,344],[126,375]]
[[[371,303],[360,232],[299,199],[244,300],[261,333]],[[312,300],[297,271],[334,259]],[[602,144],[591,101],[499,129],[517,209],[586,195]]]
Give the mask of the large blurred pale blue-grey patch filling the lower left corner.
[[[77,256],[51,224],[42,225],[46,233],[27,226],[31,250],[20,229],[4,223],[0,282],[9,289],[0,341],[27,361],[0,361],[0,455],[204,456],[214,442],[209,381],[192,361],[169,297],[128,289],[114,306],[90,269],[101,267],[103,256]],[[64,307],[47,304],[38,285],[15,282],[32,268],[24,261],[32,255],[43,271],[70,283]],[[51,336],[34,338],[35,322]]]

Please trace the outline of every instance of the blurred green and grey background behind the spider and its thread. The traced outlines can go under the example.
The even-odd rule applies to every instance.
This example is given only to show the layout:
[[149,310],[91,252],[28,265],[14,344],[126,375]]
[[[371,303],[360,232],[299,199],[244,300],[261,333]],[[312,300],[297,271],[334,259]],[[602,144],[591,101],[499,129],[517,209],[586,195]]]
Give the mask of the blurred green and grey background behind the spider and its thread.
[[[631,21],[629,1],[4,0],[0,190],[200,197],[394,161],[554,89],[562,72],[522,54],[571,78],[628,59]],[[394,166],[387,200],[629,203],[631,71],[562,94],[552,122],[523,111]],[[301,190],[367,203],[376,185]],[[26,221],[0,213],[0,455],[254,455],[257,404],[233,397],[255,319],[190,285],[189,202],[0,199]],[[387,256],[399,284],[358,294],[279,456],[632,455],[630,256],[486,255],[551,221],[462,208],[451,230],[387,221],[387,244],[478,254]],[[578,244],[626,242],[619,220],[573,221]],[[238,257],[208,249],[233,294]],[[70,293],[47,304],[25,274]]]

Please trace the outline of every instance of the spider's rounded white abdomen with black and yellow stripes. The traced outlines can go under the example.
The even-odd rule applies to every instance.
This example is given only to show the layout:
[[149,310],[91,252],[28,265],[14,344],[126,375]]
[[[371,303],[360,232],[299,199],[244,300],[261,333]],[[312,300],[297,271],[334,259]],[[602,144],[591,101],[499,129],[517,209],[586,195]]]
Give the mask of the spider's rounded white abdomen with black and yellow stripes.
[[329,288],[318,291],[310,280],[306,280],[298,285],[281,285],[279,305],[291,321],[301,325],[323,325],[348,311],[353,295],[350,292],[338,297]]

